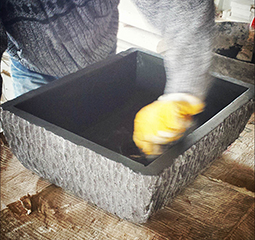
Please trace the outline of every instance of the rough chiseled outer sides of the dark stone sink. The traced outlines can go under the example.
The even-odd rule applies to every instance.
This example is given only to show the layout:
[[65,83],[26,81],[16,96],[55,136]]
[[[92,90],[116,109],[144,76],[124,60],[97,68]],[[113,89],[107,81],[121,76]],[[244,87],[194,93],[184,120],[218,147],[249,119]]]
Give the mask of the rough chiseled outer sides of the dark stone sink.
[[1,121],[26,168],[120,218],[142,223],[238,138],[252,112],[250,101],[156,176],[136,173],[7,110],[1,109]]

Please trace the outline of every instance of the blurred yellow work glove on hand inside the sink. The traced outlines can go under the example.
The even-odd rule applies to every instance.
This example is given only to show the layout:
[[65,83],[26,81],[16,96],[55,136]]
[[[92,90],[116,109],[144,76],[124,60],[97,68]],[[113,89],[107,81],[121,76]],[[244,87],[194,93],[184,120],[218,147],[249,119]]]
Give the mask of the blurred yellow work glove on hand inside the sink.
[[162,154],[162,145],[179,140],[204,103],[187,93],[165,94],[143,107],[135,117],[133,140],[146,156]]

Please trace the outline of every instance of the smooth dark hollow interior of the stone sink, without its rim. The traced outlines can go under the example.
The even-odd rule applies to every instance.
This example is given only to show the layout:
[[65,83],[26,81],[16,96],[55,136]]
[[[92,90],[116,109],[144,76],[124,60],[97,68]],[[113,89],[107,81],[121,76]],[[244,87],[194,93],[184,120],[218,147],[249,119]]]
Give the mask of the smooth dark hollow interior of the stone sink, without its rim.
[[[163,60],[133,52],[107,65],[57,80],[15,107],[144,165],[132,141],[135,114],[163,93]],[[198,126],[226,108],[246,87],[215,78]]]

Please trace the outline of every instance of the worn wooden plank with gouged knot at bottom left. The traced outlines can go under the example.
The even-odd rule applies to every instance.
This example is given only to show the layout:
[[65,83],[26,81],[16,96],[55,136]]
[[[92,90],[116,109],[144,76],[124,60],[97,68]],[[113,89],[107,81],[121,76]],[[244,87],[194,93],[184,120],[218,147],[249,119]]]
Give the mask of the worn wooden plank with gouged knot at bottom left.
[[[54,185],[29,199],[32,205],[29,215],[21,211],[22,206],[18,204],[11,204],[1,212],[1,226],[5,229],[1,239],[19,239],[18,234],[23,233],[27,239],[165,239],[153,230],[121,220]],[[9,222],[15,224],[9,225]]]

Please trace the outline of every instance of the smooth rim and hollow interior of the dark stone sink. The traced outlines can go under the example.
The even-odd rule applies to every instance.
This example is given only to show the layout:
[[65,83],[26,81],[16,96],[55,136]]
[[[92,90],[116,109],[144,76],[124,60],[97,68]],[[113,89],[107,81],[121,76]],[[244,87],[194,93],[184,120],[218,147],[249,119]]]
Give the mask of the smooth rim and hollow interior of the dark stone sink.
[[206,109],[196,117],[196,130],[162,156],[148,160],[132,141],[133,121],[139,109],[163,93],[164,86],[162,58],[132,49],[25,94],[3,108],[135,171],[158,173],[165,166],[158,162],[182,154],[253,96],[249,84],[214,77]]

